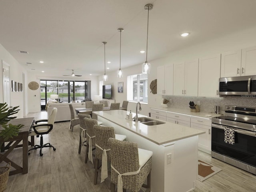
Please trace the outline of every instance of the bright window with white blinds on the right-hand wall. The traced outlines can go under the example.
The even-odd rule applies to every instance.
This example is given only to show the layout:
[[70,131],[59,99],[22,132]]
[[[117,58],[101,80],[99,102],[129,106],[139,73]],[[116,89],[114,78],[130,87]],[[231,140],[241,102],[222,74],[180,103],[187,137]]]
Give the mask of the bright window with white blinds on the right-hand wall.
[[148,103],[148,74],[127,77],[127,100]]

